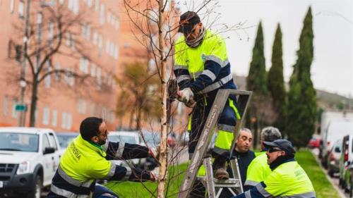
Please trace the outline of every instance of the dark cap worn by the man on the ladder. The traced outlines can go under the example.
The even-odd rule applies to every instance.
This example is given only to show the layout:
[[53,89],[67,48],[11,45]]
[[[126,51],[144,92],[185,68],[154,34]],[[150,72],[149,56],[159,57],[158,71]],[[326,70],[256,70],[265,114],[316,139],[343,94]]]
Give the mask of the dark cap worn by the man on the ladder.
[[180,16],[178,32],[189,34],[193,30],[193,26],[200,22],[200,17],[196,12],[187,11]]

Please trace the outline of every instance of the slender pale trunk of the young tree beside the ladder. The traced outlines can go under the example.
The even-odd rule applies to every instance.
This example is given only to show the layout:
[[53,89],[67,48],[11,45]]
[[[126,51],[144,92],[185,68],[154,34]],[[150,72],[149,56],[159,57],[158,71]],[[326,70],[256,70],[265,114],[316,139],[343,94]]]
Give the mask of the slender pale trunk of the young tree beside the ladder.
[[164,197],[164,185],[165,185],[165,176],[167,175],[167,63],[166,58],[164,58],[164,30],[163,27],[163,18],[164,18],[164,1],[159,1],[160,5],[158,8],[158,40],[159,40],[159,53],[160,53],[160,71],[161,71],[161,80],[162,80],[162,106],[161,106],[161,130],[160,130],[160,171],[158,178],[158,192],[157,197]]

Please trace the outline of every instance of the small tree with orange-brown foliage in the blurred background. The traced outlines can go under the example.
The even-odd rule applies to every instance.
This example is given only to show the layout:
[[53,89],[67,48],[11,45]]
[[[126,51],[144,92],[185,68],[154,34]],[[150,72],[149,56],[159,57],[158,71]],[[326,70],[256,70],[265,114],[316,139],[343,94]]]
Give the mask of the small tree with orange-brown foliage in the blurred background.
[[[159,118],[157,75],[151,74],[143,63],[126,63],[122,78],[116,79],[120,89],[116,113],[120,118],[130,113],[129,128],[140,130],[143,118]],[[133,118],[136,118],[133,122]],[[134,126],[133,126],[134,125]]]

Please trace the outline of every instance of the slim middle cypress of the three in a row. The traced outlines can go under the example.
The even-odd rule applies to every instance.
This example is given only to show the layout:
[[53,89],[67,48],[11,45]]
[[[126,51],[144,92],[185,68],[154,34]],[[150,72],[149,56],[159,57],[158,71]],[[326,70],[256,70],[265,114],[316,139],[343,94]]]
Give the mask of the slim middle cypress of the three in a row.
[[283,78],[282,32],[280,24],[277,25],[275,41],[273,42],[272,66],[268,71],[268,91],[273,101],[273,111],[277,114],[274,125],[281,132],[285,132],[287,100]]

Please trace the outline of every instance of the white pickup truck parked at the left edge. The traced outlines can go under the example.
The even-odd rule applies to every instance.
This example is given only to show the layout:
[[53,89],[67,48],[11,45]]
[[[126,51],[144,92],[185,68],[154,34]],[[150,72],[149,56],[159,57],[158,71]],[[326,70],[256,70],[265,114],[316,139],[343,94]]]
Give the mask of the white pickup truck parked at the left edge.
[[53,130],[0,128],[0,197],[37,197],[51,185],[61,151]]

